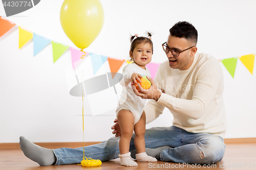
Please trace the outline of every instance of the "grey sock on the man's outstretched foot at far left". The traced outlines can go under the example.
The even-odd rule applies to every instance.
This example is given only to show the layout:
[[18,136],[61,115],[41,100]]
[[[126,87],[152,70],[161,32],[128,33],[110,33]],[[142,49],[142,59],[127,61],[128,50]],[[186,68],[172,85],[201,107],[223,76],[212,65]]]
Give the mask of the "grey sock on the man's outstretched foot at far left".
[[56,162],[56,157],[52,150],[39,147],[23,136],[19,137],[19,145],[26,157],[41,166],[49,166]]

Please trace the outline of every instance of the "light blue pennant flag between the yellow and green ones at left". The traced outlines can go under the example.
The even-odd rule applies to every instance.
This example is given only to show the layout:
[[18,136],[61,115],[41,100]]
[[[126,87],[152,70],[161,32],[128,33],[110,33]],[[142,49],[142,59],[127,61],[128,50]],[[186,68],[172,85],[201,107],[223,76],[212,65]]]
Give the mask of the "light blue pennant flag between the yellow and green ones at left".
[[51,40],[34,33],[33,42],[34,56],[36,56],[40,51],[42,51],[42,49],[44,49],[51,42]]

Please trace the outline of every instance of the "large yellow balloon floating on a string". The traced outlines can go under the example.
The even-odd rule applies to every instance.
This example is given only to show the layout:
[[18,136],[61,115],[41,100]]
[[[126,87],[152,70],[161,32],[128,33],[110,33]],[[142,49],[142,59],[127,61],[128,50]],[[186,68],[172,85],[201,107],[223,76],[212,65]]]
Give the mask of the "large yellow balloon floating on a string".
[[65,0],[61,6],[61,27],[78,48],[87,48],[98,37],[103,22],[99,0]]

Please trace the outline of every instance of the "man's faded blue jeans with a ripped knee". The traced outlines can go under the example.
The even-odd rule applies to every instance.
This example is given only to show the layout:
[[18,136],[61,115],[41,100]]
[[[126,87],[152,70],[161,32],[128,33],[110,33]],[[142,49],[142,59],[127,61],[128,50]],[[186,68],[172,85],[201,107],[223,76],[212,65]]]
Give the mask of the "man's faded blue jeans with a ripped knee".
[[[130,151],[135,149],[133,135]],[[119,137],[111,137],[98,144],[84,147],[84,156],[101,161],[118,158]],[[160,153],[161,161],[213,164],[219,162],[225,153],[223,138],[210,133],[189,133],[177,127],[147,129],[145,133],[146,148],[169,146]],[[77,149],[60,148],[53,150],[56,156],[55,165],[80,163],[83,158],[83,147]]]

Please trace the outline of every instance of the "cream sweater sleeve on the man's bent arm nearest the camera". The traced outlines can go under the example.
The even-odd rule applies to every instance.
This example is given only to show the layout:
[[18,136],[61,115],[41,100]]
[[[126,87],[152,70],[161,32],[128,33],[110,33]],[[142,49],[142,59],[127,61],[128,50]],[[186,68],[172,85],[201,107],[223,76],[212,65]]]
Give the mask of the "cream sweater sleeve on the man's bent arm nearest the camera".
[[201,66],[191,100],[178,99],[162,93],[157,103],[181,115],[198,119],[216,99],[216,91],[223,79],[221,65],[216,59],[209,59]]

